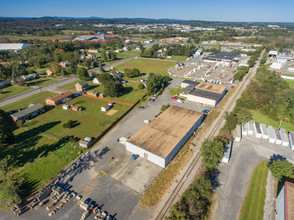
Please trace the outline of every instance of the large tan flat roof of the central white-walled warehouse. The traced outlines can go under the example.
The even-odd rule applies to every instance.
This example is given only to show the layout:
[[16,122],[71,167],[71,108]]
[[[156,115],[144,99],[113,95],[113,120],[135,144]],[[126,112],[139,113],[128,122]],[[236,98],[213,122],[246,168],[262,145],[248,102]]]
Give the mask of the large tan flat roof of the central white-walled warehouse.
[[200,112],[171,106],[128,142],[166,158],[201,116]]

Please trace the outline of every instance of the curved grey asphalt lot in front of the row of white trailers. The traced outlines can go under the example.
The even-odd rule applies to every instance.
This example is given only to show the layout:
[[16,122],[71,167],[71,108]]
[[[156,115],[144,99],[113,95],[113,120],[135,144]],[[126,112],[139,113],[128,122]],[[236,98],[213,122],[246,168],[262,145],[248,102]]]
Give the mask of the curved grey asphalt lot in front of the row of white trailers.
[[219,201],[216,219],[238,219],[254,168],[259,162],[270,158],[286,158],[294,163],[294,151],[253,135],[243,137],[241,142],[234,142],[229,163],[222,163],[218,167],[220,173],[215,183]]

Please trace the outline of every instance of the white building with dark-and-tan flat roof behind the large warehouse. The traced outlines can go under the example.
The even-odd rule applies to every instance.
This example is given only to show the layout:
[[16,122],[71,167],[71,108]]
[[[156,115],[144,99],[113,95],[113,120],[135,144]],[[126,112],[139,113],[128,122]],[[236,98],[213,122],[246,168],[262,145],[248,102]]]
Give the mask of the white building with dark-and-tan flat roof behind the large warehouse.
[[205,105],[216,106],[226,93],[226,87],[215,84],[184,80],[181,96],[189,101],[199,102]]

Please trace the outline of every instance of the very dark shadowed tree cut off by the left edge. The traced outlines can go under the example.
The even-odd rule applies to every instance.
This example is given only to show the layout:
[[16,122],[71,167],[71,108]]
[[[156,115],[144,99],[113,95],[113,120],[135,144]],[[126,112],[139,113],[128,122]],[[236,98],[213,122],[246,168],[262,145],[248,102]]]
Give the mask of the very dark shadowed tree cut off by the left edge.
[[5,111],[0,109],[0,146],[12,144],[15,137],[13,134],[14,126],[9,120]]

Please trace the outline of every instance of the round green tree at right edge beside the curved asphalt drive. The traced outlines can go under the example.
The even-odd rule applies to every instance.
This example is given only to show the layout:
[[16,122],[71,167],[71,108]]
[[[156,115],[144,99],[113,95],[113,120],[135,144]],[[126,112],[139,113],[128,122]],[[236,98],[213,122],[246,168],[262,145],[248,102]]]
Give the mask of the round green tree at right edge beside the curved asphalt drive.
[[289,178],[294,177],[294,166],[287,160],[278,159],[276,161],[273,161],[269,164],[269,169],[272,172],[273,176],[278,180],[281,180],[283,176]]

